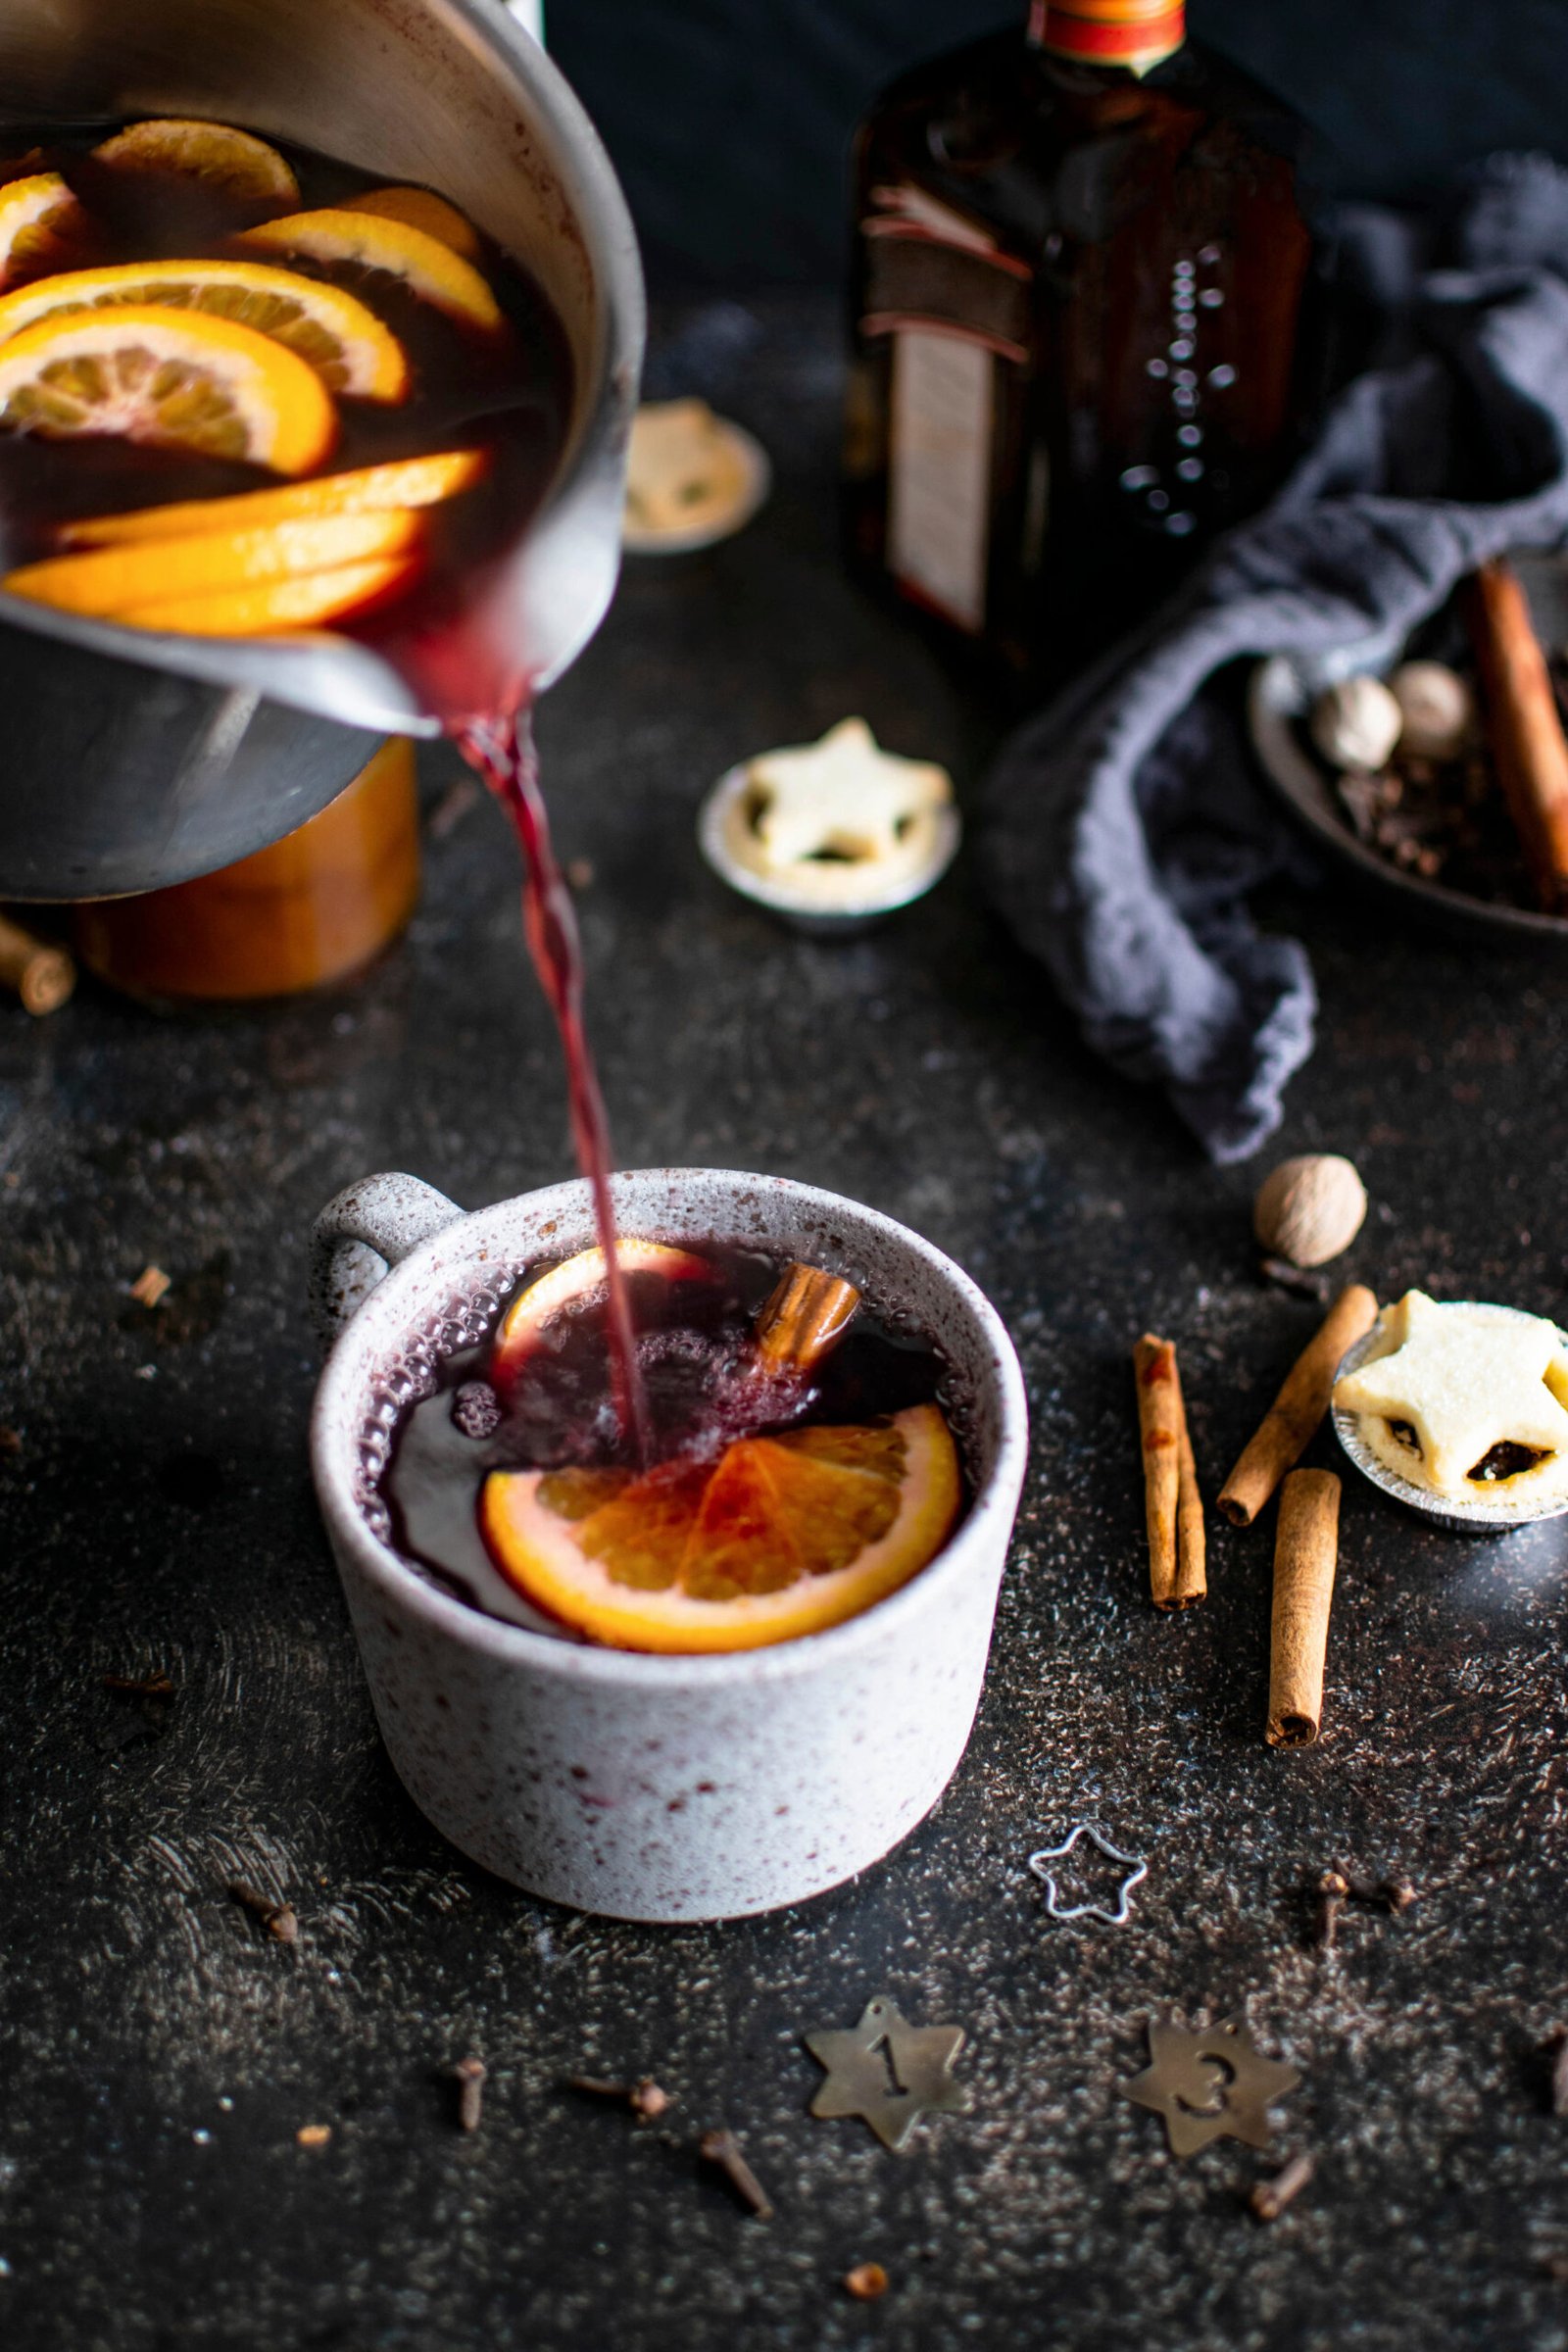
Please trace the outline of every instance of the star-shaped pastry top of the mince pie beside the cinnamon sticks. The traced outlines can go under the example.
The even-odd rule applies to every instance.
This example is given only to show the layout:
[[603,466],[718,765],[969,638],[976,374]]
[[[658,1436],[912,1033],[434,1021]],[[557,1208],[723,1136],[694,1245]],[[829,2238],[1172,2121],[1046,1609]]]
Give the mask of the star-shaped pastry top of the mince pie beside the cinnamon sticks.
[[[1544,1315],[1490,1305],[1439,1305],[1425,1291],[1378,1317],[1378,1338],[1333,1402],[1361,1416],[1366,1444],[1413,1486],[1474,1496],[1495,1482],[1472,1477],[1497,1444],[1544,1456],[1509,1479],[1533,1489],[1568,1482],[1568,1350]],[[1415,1446],[1389,1430],[1401,1423]]]

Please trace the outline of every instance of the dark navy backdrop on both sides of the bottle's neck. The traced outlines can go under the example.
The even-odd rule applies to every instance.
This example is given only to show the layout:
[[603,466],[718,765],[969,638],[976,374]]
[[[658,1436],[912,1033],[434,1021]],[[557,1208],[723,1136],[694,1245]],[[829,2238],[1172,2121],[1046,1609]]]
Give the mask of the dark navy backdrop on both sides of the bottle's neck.
[[[875,92],[1025,0],[545,0],[656,287],[830,285]],[[1568,153],[1563,0],[1192,0],[1192,33],[1328,134],[1354,195],[1422,195],[1493,148]]]

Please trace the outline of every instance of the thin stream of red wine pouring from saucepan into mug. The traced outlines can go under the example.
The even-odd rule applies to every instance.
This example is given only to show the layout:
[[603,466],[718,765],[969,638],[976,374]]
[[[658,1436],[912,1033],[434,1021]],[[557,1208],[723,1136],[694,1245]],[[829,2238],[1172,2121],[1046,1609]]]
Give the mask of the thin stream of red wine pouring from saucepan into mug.
[[555,861],[550,816],[538,790],[538,755],[527,708],[501,720],[470,720],[456,729],[463,757],[480,769],[505,809],[522,847],[522,924],[567,1058],[567,1098],[578,1167],[592,1190],[599,1247],[609,1272],[607,1338],[611,1395],[623,1442],[649,1461],[649,1402],[637,1364],[632,1305],[616,1254],[616,1211],[609,1197],[609,1120],[599,1075],[583,1028],[583,946],[567,877]]

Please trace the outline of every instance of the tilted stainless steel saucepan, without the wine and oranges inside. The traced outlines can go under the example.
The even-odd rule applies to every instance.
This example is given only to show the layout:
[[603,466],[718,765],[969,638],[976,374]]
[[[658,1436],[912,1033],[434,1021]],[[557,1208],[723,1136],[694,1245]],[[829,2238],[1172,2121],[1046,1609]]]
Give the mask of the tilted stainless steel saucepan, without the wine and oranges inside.
[[[543,49],[496,0],[5,0],[0,132],[125,115],[435,186],[534,270],[576,400],[501,619],[534,682],[557,677],[616,586],[644,313],[621,188]],[[324,809],[388,731],[433,722],[350,640],[150,635],[0,593],[0,898],[226,866]]]

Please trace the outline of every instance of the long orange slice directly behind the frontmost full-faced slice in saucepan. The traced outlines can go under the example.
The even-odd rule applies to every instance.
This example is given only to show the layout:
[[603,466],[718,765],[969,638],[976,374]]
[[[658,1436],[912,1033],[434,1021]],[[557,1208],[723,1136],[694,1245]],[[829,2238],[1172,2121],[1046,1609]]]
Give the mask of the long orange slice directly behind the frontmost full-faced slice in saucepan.
[[287,343],[329,390],[355,400],[402,400],[409,390],[402,343],[374,310],[343,287],[266,261],[129,261],[35,278],[0,296],[0,343],[40,318],[125,303],[233,318]]

